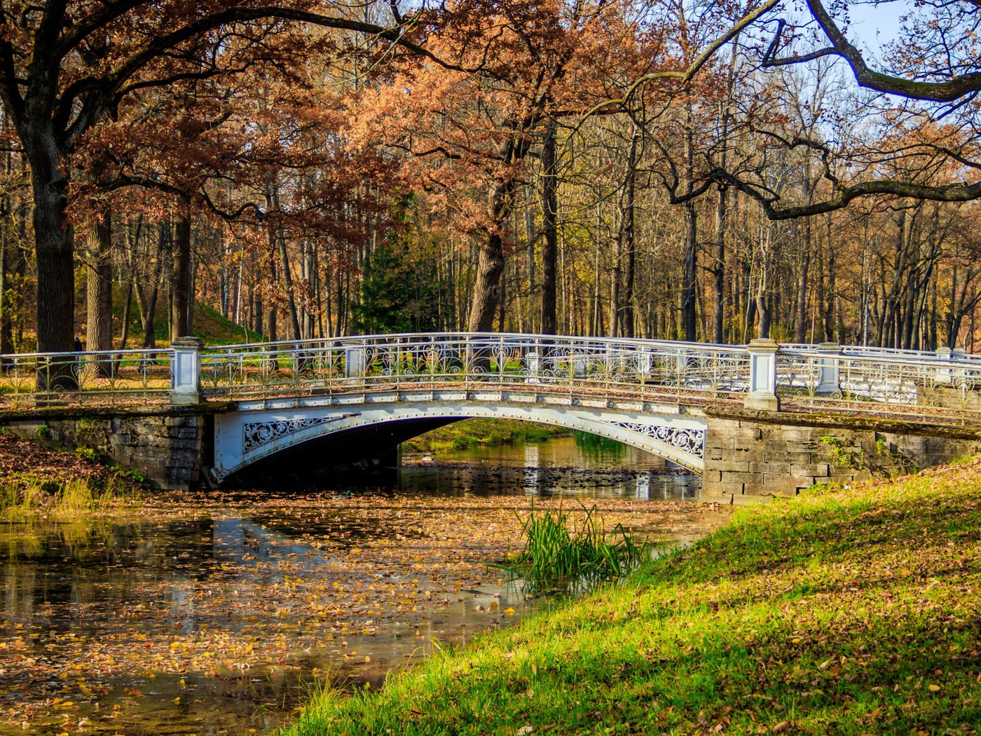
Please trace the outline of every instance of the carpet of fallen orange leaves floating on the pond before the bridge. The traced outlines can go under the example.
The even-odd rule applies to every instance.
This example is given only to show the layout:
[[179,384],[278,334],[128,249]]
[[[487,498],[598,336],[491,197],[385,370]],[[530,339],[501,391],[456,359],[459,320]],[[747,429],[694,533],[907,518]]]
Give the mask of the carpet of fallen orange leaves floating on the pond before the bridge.
[[[193,698],[181,694],[193,690],[191,675],[233,685],[370,667],[380,680],[431,651],[432,639],[468,638],[497,625],[499,610],[518,618],[522,597],[498,608],[489,591],[502,581],[487,568],[517,538],[516,503],[530,510],[509,497],[185,492],[138,518],[34,540],[8,533],[22,559],[54,551],[67,569],[101,573],[68,582],[70,603],[0,613],[0,719],[52,722],[56,710],[79,707],[93,720],[115,717],[116,706],[149,702],[148,684],[165,675],[176,691],[168,700],[181,707]],[[611,526],[652,527],[660,538],[706,525],[697,506],[600,505]]]

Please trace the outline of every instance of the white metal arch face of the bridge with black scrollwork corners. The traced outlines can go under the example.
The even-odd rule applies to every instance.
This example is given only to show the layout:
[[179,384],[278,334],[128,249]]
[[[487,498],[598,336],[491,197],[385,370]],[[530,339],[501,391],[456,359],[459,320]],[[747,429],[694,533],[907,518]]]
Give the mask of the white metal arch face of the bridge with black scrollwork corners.
[[579,430],[644,449],[697,473],[704,470],[706,421],[677,413],[591,407],[571,402],[541,405],[446,398],[284,407],[269,404],[243,403],[237,410],[216,417],[214,480],[221,482],[252,463],[331,436],[391,423],[419,427],[417,432],[403,433],[404,440],[441,423],[473,417],[515,419]]

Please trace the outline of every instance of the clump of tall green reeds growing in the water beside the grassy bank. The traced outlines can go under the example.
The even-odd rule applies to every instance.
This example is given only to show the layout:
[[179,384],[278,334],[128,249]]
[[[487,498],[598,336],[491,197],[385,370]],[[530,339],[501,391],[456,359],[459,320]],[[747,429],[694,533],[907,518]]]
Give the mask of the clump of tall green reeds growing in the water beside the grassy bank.
[[524,549],[494,565],[523,578],[532,593],[623,577],[650,557],[647,541],[636,541],[622,524],[607,531],[595,504],[580,512],[561,505],[522,521]]

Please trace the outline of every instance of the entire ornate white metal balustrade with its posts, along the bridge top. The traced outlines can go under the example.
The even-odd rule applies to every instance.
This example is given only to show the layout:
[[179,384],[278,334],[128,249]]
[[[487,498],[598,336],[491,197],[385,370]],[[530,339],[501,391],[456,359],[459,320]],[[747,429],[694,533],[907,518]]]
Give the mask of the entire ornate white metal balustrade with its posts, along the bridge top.
[[422,333],[0,356],[8,409],[448,386],[981,424],[981,359],[946,348]]

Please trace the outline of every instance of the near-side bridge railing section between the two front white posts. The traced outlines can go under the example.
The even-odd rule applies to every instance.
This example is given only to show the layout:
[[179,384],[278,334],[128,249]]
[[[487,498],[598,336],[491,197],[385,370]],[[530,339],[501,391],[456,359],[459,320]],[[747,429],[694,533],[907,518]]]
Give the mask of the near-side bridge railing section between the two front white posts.
[[748,376],[740,346],[479,333],[242,344],[201,354],[201,391],[215,396],[490,383],[718,394],[746,391]]

